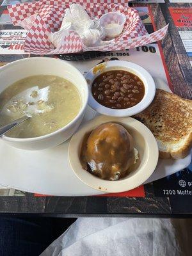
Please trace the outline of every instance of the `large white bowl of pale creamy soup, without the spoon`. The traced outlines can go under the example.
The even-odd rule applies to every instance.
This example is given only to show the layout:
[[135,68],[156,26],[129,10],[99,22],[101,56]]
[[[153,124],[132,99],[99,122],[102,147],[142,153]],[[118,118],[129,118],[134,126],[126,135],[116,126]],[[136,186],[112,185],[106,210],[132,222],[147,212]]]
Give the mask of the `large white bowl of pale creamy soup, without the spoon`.
[[2,136],[13,147],[41,150],[68,140],[83,119],[88,85],[67,61],[35,57],[0,69],[0,125],[31,116]]

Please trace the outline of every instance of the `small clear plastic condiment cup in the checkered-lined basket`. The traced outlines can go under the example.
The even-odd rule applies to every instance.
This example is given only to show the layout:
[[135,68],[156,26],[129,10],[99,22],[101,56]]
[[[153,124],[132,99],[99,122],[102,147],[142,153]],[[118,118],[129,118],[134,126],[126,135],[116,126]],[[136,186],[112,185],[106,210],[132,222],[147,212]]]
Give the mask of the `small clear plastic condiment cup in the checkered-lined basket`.
[[104,29],[107,38],[115,38],[124,29],[126,17],[120,12],[109,12],[100,17],[100,26]]

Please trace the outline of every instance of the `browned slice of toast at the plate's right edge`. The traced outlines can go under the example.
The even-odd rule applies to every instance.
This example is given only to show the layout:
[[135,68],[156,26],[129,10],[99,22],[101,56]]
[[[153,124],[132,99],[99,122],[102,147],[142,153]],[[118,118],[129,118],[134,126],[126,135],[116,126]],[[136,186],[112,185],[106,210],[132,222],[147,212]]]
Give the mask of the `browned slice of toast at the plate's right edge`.
[[188,155],[192,147],[192,100],[157,89],[152,104],[134,117],[154,134],[160,158]]

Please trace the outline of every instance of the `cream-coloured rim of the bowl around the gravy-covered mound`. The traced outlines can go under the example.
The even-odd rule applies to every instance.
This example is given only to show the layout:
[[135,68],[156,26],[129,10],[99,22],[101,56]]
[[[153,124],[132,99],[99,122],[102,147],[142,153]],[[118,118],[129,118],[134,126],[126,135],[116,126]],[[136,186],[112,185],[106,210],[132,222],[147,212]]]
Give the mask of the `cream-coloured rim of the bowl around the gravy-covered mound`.
[[[145,140],[148,158],[143,161],[140,170],[133,173],[130,177],[128,176],[127,178],[125,177],[124,179],[115,181],[102,180],[99,177],[87,172],[81,166],[79,161],[79,147],[81,145],[81,141],[83,140],[84,134],[86,134],[88,131],[92,131],[93,128],[105,122],[127,124],[132,127],[132,129],[138,131]],[[144,124],[131,117],[117,118],[114,116],[98,116],[97,118],[94,118],[86,123],[72,136],[68,147],[69,163],[76,176],[88,186],[106,193],[123,192],[143,184],[143,182],[145,182],[145,180],[147,180],[154,172],[158,157],[159,150],[157,141],[152,132]]]

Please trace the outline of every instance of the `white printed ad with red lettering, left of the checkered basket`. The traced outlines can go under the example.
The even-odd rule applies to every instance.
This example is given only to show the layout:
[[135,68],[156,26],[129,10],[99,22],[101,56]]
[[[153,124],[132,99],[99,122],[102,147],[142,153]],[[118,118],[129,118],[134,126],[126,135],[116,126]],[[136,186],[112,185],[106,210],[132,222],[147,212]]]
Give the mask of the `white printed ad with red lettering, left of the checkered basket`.
[[0,29],[0,54],[24,54],[25,29]]

